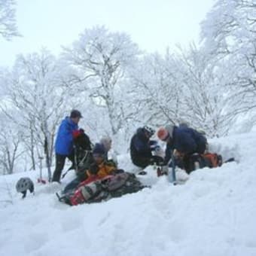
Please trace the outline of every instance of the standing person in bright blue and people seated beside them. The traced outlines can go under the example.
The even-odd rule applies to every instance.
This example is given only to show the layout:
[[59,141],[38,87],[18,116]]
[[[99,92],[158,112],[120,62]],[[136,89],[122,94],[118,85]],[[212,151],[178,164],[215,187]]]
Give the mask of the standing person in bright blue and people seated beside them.
[[[56,167],[53,172],[52,181],[60,183],[62,169],[65,165],[66,158],[72,161],[74,169],[78,167],[76,159],[76,151],[74,148],[75,141],[80,136],[87,136],[84,130],[78,129],[78,123],[82,118],[81,112],[72,110],[69,117],[62,120],[56,136],[55,155]],[[90,140],[88,141],[90,144]],[[89,145],[90,148],[91,145]],[[90,148],[91,149],[91,148]],[[86,180],[91,175],[98,175],[103,178],[110,174],[114,169],[117,169],[117,163],[114,160],[108,160],[108,151],[111,149],[111,138],[108,136],[102,137],[99,143],[96,143],[92,150],[87,154],[87,159],[84,160],[83,166],[80,166],[77,171],[78,177],[70,184],[72,187],[78,185],[81,181]]]

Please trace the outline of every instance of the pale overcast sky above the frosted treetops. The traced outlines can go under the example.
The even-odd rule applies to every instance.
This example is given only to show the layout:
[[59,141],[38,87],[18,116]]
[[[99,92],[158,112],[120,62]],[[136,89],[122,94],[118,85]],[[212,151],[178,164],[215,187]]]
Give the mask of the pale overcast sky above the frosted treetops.
[[18,53],[47,47],[58,54],[84,29],[105,25],[126,32],[142,50],[163,53],[167,46],[198,41],[200,21],[214,0],[17,0],[22,38],[0,38],[0,66],[14,64]]

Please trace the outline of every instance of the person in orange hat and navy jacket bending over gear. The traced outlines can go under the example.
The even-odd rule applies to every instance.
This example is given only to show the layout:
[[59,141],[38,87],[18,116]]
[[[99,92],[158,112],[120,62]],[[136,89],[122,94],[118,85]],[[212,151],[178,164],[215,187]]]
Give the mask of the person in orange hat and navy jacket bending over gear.
[[182,159],[182,164],[179,163],[178,166],[186,169],[187,160],[192,154],[203,154],[206,151],[206,137],[188,126],[160,127],[157,136],[161,141],[166,142],[165,164],[169,163],[174,154],[176,158]]

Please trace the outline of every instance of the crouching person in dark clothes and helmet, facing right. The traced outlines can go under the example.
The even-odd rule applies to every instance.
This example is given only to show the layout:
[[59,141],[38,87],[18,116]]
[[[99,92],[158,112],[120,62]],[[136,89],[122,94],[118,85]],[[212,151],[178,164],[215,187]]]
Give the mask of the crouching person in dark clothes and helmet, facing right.
[[150,164],[163,162],[162,157],[154,156],[152,151],[156,149],[156,142],[151,141],[154,130],[148,126],[139,128],[130,142],[130,155],[136,166],[145,168]]

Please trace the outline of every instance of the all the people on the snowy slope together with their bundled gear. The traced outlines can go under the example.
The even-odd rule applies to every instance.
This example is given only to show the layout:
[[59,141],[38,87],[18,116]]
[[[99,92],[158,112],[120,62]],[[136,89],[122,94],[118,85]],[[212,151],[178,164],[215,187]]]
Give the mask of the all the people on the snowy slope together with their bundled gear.
[[[52,181],[60,183],[62,169],[66,158],[72,161],[76,178],[66,185],[62,195],[56,194],[59,200],[69,205],[97,202],[109,197],[119,197],[133,193],[145,187],[139,179],[130,172],[119,169],[117,161],[108,158],[111,149],[111,138],[102,137],[93,145],[84,130],[78,128],[82,118],[81,112],[72,110],[69,117],[62,120],[56,136],[56,168]],[[154,135],[166,143],[165,153]],[[213,163],[212,155],[206,153],[207,140],[203,133],[192,129],[185,123],[179,126],[166,125],[157,131],[149,126],[142,126],[136,130],[130,141],[130,157],[135,166],[139,167],[138,174],[146,174],[145,168],[149,165],[178,166],[187,173],[194,170],[191,160],[202,160],[202,166],[218,166],[218,159]],[[204,158],[206,157],[206,158]],[[209,163],[206,163],[207,157]],[[158,169],[157,168],[157,175]],[[163,172],[160,175],[166,174]]]

